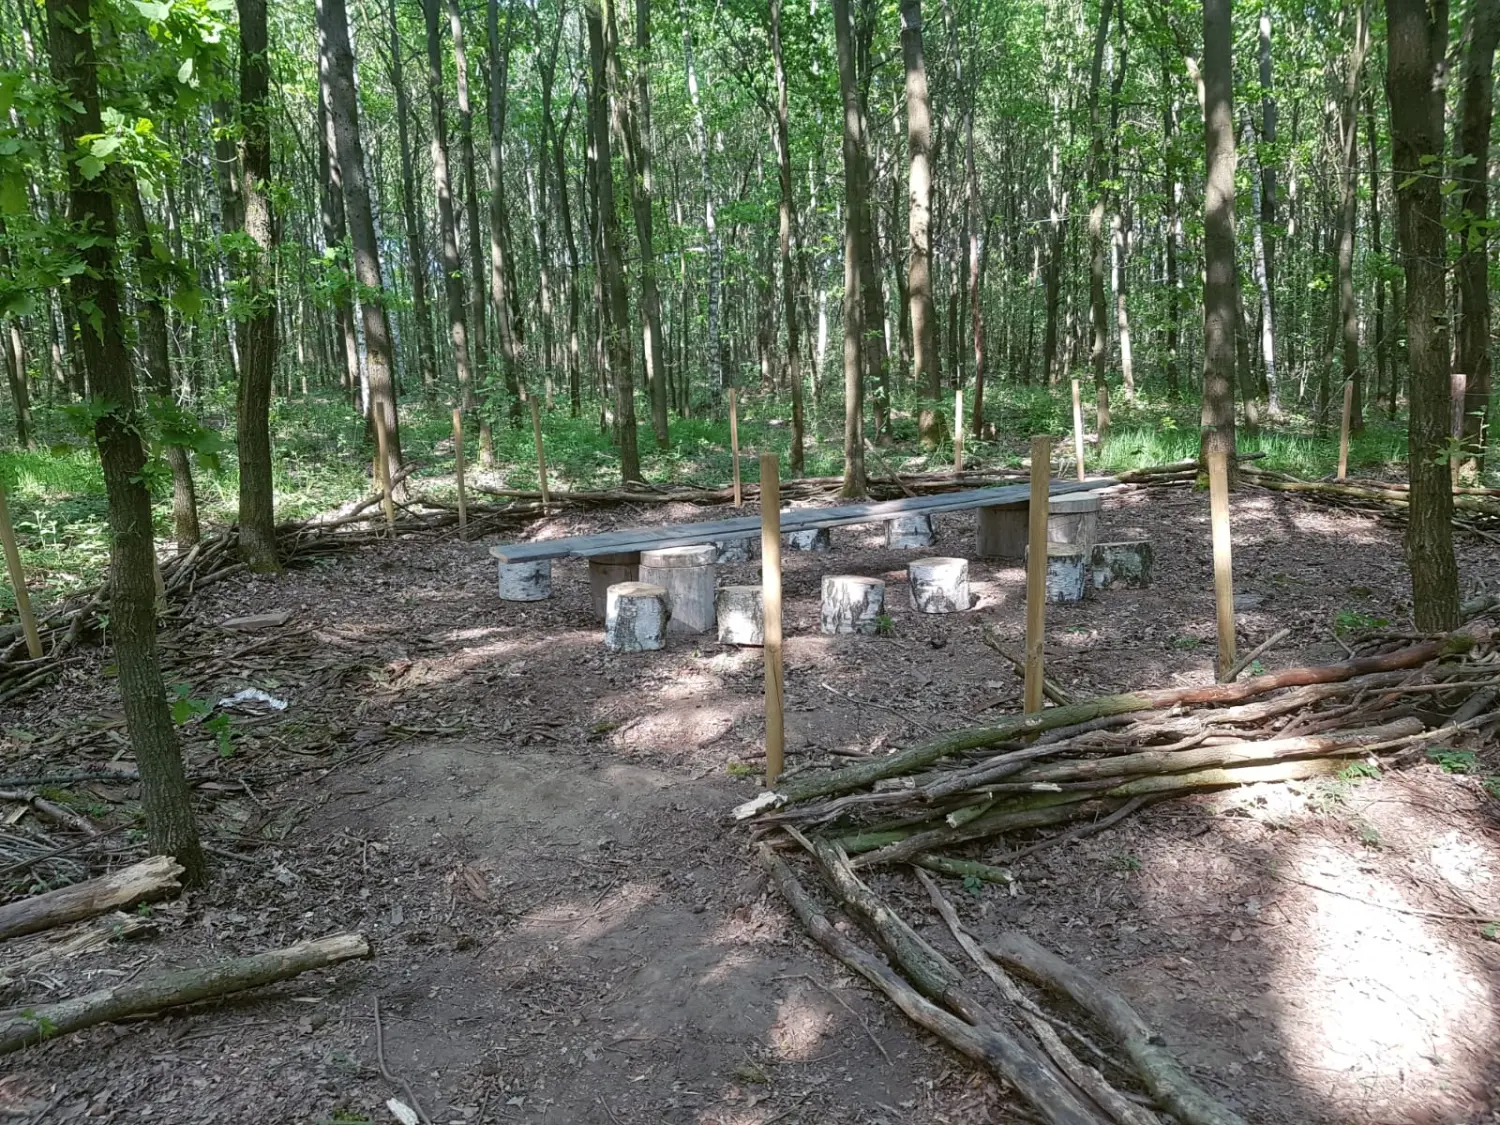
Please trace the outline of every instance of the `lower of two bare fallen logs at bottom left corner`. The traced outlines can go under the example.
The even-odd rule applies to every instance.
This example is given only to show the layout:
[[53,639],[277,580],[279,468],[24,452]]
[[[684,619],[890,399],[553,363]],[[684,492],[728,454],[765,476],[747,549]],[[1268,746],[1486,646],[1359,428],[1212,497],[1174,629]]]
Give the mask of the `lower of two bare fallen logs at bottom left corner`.
[[370,946],[364,934],[336,933],[332,938],[297,942],[285,950],[232,957],[201,969],[178,969],[128,981],[70,1000],[39,1004],[0,1016],[0,1054],[126,1016],[146,1016],[183,1004],[212,1000],[369,956]]

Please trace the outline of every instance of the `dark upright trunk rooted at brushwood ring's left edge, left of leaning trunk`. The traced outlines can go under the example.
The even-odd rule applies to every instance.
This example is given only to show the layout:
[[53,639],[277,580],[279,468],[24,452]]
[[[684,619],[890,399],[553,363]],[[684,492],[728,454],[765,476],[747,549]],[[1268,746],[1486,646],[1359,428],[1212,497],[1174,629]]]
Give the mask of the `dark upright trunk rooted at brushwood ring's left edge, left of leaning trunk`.
[[240,202],[244,232],[255,243],[243,261],[240,388],[236,442],[240,458],[240,558],[255,573],[278,573],[276,496],[272,478],[272,380],[276,372],[276,219],[272,212],[270,57],[266,0],[238,0],[240,15]]

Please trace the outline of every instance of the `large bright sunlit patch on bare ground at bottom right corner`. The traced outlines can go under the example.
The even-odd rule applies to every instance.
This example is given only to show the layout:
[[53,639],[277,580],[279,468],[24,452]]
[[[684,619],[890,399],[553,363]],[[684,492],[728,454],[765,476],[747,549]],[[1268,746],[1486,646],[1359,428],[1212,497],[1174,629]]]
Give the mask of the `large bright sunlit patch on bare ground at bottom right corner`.
[[1320,844],[1293,870],[1306,938],[1274,974],[1290,1005],[1288,1064],[1310,1089],[1341,1074],[1350,1088],[1374,1083],[1390,1110],[1416,1112],[1464,1077],[1466,1044],[1492,1040],[1484,982],[1431,924],[1389,909],[1400,892],[1358,856]]

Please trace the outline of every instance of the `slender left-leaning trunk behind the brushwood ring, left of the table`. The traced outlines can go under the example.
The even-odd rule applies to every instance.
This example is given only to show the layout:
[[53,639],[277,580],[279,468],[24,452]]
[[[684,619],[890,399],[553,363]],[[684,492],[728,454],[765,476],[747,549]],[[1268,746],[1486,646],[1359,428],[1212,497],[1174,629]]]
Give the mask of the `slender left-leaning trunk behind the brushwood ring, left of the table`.
[[344,0],[318,0],[318,22],[328,45],[328,111],[344,176],[344,208],[350,219],[354,249],[354,279],[360,285],[360,326],[364,328],[366,380],[370,410],[381,412],[392,472],[402,465],[400,420],[396,414],[396,357],[386,315],[386,284],[381,279],[380,243],[364,174],[360,141],[358,96],[354,92],[354,51]]

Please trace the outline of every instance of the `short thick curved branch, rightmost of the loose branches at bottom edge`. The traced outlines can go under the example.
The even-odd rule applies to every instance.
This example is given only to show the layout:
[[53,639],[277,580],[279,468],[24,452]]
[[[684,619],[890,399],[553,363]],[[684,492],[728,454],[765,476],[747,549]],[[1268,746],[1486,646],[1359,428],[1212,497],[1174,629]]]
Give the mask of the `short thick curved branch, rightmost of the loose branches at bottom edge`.
[[1104,1024],[1125,1048],[1146,1089],[1184,1125],[1246,1125],[1244,1118],[1194,1083],[1161,1046],[1161,1036],[1098,978],[1068,964],[1023,933],[1002,934],[986,946],[986,952],[1071,998]]

